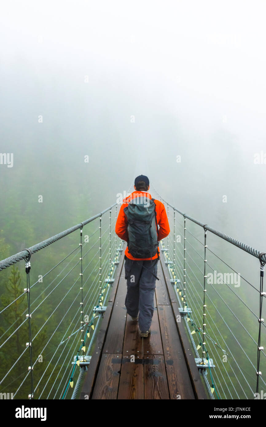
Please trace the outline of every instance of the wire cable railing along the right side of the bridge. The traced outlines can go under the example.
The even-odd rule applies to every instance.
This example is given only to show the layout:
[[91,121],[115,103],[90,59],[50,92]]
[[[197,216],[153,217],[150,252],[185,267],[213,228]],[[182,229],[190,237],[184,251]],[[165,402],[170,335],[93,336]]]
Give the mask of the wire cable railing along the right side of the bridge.
[[[262,371],[266,369],[265,354],[260,345],[260,340],[265,341],[262,302],[266,296],[263,292],[266,254],[193,219],[167,203],[154,190],[165,205],[171,230],[161,241],[161,250],[179,299],[181,316],[193,341],[195,356],[203,365],[203,369],[199,369],[210,398],[256,398],[259,385],[260,390],[265,390],[266,386],[262,377]],[[183,219],[183,224],[176,213]],[[187,220],[192,223],[190,227]],[[203,228],[204,243],[193,232],[198,226]],[[259,289],[217,255],[215,249],[208,247],[208,231],[258,258]],[[206,259],[207,253],[210,260]],[[219,271],[222,273],[217,273]],[[236,277],[237,282],[234,281]],[[257,293],[260,311],[256,314]]]

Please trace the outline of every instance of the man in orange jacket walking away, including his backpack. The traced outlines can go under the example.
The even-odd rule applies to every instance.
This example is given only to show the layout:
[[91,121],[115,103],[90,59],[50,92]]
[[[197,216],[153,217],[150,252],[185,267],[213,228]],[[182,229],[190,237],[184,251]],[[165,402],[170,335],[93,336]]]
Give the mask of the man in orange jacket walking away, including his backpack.
[[153,301],[160,254],[158,243],[168,236],[170,227],[164,204],[152,199],[148,193],[149,179],[145,175],[139,175],[134,184],[135,191],[121,205],[115,232],[127,242],[126,309],[132,320],[138,320],[140,336],[147,337],[154,313]]

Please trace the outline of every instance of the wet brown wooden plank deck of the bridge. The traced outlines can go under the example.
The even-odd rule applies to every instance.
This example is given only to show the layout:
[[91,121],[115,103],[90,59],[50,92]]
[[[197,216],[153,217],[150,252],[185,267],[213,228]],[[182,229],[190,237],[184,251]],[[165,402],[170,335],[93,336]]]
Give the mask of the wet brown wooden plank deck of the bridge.
[[144,339],[124,305],[123,264],[110,290],[80,399],[208,399],[184,325],[176,322],[178,302],[164,261],[158,263],[151,334]]

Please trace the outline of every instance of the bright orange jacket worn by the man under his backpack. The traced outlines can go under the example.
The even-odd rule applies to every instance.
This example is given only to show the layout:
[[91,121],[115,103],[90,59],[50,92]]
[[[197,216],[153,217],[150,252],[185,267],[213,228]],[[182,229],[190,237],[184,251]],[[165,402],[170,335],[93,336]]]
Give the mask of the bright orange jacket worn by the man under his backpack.
[[[128,220],[127,217],[125,215],[124,209],[126,208],[126,206],[128,206],[128,202],[130,202],[132,199],[135,199],[136,197],[139,197],[139,194],[141,193],[141,196],[143,197],[149,197],[149,199],[152,199],[152,196],[150,195],[150,193],[147,193],[146,191],[133,191],[133,193],[130,194],[130,196],[128,196],[127,198],[123,199],[123,203],[121,205],[120,211],[118,213],[117,216],[117,222],[115,225],[115,232],[117,234],[118,237],[120,237],[120,239],[122,240],[126,240],[126,242],[128,241]],[[170,233],[170,227],[169,227],[169,222],[168,222],[168,218],[167,218],[167,213],[164,207],[164,204],[162,202],[160,202],[159,200],[154,200],[156,208],[155,211],[157,213],[156,218],[157,218],[157,222],[158,222],[158,228],[159,228],[159,233],[157,233],[158,235],[158,242],[162,239],[164,239],[164,237],[167,237],[168,234]],[[160,253],[159,247],[158,247],[158,252]],[[126,247],[125,250],[125,255],[126,257],[128,257],[130,260],[150,260],[151,258],[134,258],[132,256],[132,254],[129,252],[129,248],[128,246]],[[158,255],[155,254],[154,257],[152,257],[153,260],[155,260],[156,258],[158,258]]]

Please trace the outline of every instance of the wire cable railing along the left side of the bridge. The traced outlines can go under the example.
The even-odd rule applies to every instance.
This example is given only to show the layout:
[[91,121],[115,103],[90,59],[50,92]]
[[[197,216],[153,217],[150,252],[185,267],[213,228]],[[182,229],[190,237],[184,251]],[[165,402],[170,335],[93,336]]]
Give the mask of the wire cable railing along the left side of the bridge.
[[[104,218],[106,221],[102,220]],[[73,358],[69,360],[68,357],[65,357],[64,361],[62,360],[66,353],[69,354],[68,348],[71,346],[74,354],[77,355],[76,363],[74,363],[76,371],[79,358],[84,358],[86,354],[87,342],[89,344],[92,336],[94,336],[94,333],[91,332],[95,330],[95,321],[102,316],[99,316],[98,311],[100,313],[99,308],[102,307],[103,296],[108,295],[108,290],[112,285],[114,267],[116,267],[121,253],[122,241],[118,241],[117,235],[114,233],[116,219],[117,203],[114,203],[109,208],[74,227],[0,261],[0,271],[12,266],[17,273],[18,269],[15,270],[15,264],[20,260],[25,260],[27,278],[27,287],[24,292],[20,295],[17,294],[13,301],[9,300],[5,305],[2,303],[4,306],[0,311],[0,315],[3,316],[0,337],[1,351],[10,352],[14,339],[18,343],[17,351],[12,351],[1,369],[0,389],[2,392],[6,390],[8,384],[12,383],[13,398],[48,398],[53,385],[50,392],[47,385],[56,382],[59,369],[63,374],[62,369],[67,372],[67,367],[69,364],[71,366],[73,362]],[[90,228],[85,236],[87,239],[82,238],[82,231],[85,226]],[[91,228],[93,226],[94,229]],[[37,260],[36,263],[32,262],[32,254],[60,239],[69,238],[69,235],[74,234],[77,230],[80,231],[79,246],[75,246],[71,252],[63,257],[61,256],[61,260],[56,261],[52,268],[48,269],[45,274],[39,275],[41,280],[35,280],[34,284],[30,285],[29,279],[32,276],[34,278],[39,273],[34,271]],[[72,238],[71,244],[73,243],[74,239]],[[89,246],[88,249],[86,252],[83,250],[84,253],[82,254],[82,247],[84,249],[87,246]],[[72,258],[70,258],[71,255],[73,255]],[[78,256],[79,259],[77,260]],[[86,259],[87,262],[85,263]],[[85,265],[82,265],[82,261]],[[31,262],[33,267],[30,265]],[[58,272],[59,267],[60,271]],[[41,287],[40,283],[42,284]],[[18,281],[15,281],[13,286],[16,287],[17,292],[19,289]],[[24,299],[29,294],[31,299],[26,308]],[[10,314],[10,310],[14,308],[15,318]],[[21,308],[23,309],[21,310]],[[26,336],[26,325],[29,325],[30,335],[28,337]],[[80,325],[78,329],[77,325]],[[73,343],[71,344],[69,336],[65,345],[62,346],[61,341],[64,341],[69,330],[72,330],[70,336],[73,336]],[[77,347],[78,339],[80,344]],[[58,349],[60,349],[61,355],[57,360]],[[48,354],[52,354],[51,357],[47,358]],[[30,363],[27,363],[26,359],[29,356]],[[19,375],[18,371],[20,371]],[[65,375],[63,374],[63,377]],[[48,377],[49,381],[47,381]],[[62,381],[63,377],[60,377],[59,374],[61,386],[66,381],[68,388],[71,389],[74,374],[67,380],[65,378],[64,381]],[[64,393],[64,398],[68,398],[64,389],[58,391],[61,395]]]

